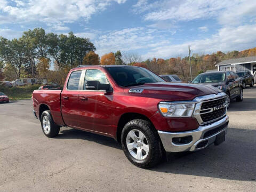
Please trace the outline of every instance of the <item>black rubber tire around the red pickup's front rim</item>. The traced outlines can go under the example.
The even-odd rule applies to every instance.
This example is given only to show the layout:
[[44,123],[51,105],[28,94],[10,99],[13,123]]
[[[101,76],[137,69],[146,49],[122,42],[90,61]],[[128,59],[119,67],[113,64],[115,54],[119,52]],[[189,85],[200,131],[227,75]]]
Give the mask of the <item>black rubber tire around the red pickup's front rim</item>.
[[[127,134],[132,130],[141,131],[148,142],[148,154],[145,159],[134,158],[126,145]],[[135,142],[135,141],[134,141]],[[139,142],[139,141],[138,141]],[[149,168],[157,165],[163,156],[163,148],[155,127],[148,121],[142,119],[133,119],[126,123],[122,130],[121,143],[125,156],[129,161],[141,168]],[[143,146],[143,145],[142,145]],[[137,146],[138,147],[138,146]],[[142,147],[143,148],[143,147]],[[143,150],[143,149],[142,149]],[[141,152],[142,153],[142,152]]]

